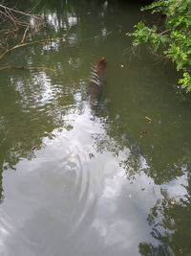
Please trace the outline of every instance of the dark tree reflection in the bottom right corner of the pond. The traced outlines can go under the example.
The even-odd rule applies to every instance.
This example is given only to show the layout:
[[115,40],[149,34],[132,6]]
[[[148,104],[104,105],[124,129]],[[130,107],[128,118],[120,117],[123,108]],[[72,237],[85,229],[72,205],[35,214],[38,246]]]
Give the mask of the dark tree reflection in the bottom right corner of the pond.
[[141,255],[190,255],[191,254],[191,178],[184,186],[186,195],[170,198],[162,191],[163,199],[151,209],[148,223],[152,236],[159,241],[155,244],[139,244]]

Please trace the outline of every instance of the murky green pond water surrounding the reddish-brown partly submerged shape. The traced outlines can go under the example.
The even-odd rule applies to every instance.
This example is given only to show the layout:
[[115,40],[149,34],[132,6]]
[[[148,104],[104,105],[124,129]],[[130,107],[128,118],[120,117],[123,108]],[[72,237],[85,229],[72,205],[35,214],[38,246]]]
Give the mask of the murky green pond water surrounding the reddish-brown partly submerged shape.
[[[0,254],[191,255],[191,105],[125,34],[137,4],[50,1],[0,74]],[[91,63],[107,66],[98,105]]]

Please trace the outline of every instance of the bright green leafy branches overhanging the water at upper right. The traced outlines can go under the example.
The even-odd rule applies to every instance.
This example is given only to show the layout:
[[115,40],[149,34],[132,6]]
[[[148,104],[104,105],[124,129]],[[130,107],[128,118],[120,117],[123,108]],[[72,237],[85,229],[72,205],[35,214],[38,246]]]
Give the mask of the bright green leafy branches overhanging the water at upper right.
[[134,46],[148,43],[154,52],[160,51],[172,59],[182,72],[180,87],[191,92],[191,0],[159,0],[141,9],[165,16],[162,30],[159,25],[147,26],[142,21],[135,25]]

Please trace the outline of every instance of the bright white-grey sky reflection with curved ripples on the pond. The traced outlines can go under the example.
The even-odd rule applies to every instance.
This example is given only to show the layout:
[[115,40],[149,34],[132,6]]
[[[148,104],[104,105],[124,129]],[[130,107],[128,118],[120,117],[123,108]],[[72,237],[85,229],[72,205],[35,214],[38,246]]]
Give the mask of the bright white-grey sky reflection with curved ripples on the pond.
[[138,255],[146,213],[140,198],[133,198],[137,188],[126,183],[112,152],[96,151],[93,134],[104,131],[99,119],[91,119],[91,109],[67,119],[74,119],[72,129],[54,131],[35,158],[20,161],[16,172],[4,172],[3,252]]

